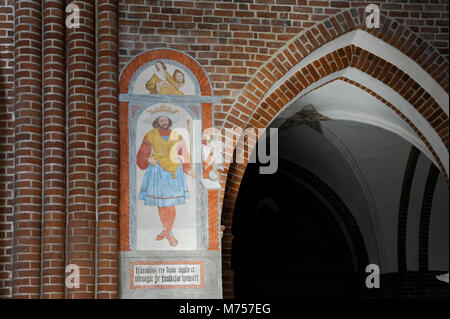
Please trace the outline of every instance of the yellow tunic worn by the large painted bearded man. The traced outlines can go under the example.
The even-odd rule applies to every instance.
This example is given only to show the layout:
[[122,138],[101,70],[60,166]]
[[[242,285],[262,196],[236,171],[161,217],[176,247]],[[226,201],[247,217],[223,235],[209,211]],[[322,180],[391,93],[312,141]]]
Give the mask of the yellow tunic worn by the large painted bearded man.
[[[151,157],[159,161],[162,169],[172,174],[172,178],[175,179],[175,171],[178,168],[179,162],[177,160],[177,147],[182,137],[175,131],[171,131],[168,140],[159,133],[159,129],[155,128],[145,135],[145,138],[150,142],[153,147],[153,153]],[[154,166],[154,165],[153,165]]]

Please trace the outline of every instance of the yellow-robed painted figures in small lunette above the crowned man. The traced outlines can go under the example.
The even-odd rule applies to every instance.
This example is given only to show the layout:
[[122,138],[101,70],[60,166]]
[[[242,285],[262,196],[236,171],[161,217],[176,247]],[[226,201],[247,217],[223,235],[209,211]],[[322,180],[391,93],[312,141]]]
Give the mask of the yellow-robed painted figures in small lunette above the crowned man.
[[155,67],[156,73],[145,85],[150,94],[184,95],[180,91],[184,85],[183,72],[175,70],[173,75],[170,75],[162,61],[156,61]]

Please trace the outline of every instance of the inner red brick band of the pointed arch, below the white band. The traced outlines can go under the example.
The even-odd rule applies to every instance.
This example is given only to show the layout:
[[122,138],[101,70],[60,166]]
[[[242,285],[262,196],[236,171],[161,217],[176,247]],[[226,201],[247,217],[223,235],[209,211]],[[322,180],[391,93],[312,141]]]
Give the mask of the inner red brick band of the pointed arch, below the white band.
[[[394,86],[394,90],[405,98],[413,107],[418,110],[423,117],[428,121],[428,123],[435,128],[442,143],[446,146],[448,151],[448,116],[440,109],[440,106],[434,100],[431,95],[429,95],[425,90],[407,74],[402,72],[396,66],[381,60],[375,55],[354,46],[348,46],[336,50],[327,56],[321,58],[322,61],[314,61],[299,72],[295,73],[288,81],[282,84],[277,90],[275,90],[271,95],[269,95],[264,101],[262,101],[259,107],[253,112],[252,117],[248,120],[245,128],[264,128],[270,122],[270,120],[277,116],[279,111],[293,98],[302,98],[306,94],[310,93],[312,90],[305,90],[311,84],[319,81],[325,75],[336,73],[337,71],[343,70],[349,66],[356,67],[361,71],[368,71],[370,75],[378,78],[383,83]],[[318,68],[318,71],[315,68]],[[383,73],[382,70],[387,70],[387,73]],[[367,72],[366,72],[367,73]],[[432,156],[434,157],[436,163],[438,164],[440,170],[445,175],[448,180],[448,175],[445,171],[444,165],[437,155],[436,151],[433,149],[430,142],[426,137],[420,132],[420,130],[410,121],[407,116],[405,116],[400,110],[398,110],[395,105],[388,102],[382,96],[378,95],[376,92],[371,90],[364,85],[348,79],[346,77],[340,76],[332,81],[341,80],[348,84],[354,85],[361,90],[371,94],[378,100],[383,102],[386,107],[395,111],[400,118],[402,118],[418,135],[418,137],[424,142],[425,146],[428,148]],[[330,83],[323,83],[321,86]],[[319,86],[319,87],[321,87]],[[319,88],[317,87],[317,88]],[[411,94],[408,89],[417,88],[414,94]],[[315,88],[315,89],[317,89]],[[315,90],[314,89],[314,90]],[[261,97],[262,98],[262,97]],[[239,189],[240,180],[243,173],[245,172],[246,164],[236,164],[230,165],[228,170],[228,176],[226,176],[226,185],[228,191],[225,194],[224,209],[232,210],[234,207],[234,200],[237,196],[237,191]],[[231,205],[230,205],[231,204]]]

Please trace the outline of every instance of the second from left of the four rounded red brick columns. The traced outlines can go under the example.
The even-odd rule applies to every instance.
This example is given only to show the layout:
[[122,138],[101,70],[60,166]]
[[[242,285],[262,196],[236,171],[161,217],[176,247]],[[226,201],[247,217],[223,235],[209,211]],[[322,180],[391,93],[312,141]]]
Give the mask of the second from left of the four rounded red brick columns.
[[64,1],[44,0],[44,210],[42,298],[64,298],[66,101]]

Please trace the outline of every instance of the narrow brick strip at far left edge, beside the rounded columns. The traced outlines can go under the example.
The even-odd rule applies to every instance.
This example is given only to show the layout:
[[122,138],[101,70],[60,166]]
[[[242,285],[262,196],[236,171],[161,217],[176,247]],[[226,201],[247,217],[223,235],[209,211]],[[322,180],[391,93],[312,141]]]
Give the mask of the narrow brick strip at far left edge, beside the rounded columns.
[[0,1],[0,299],[11,297],[14,210],[14,2]]

